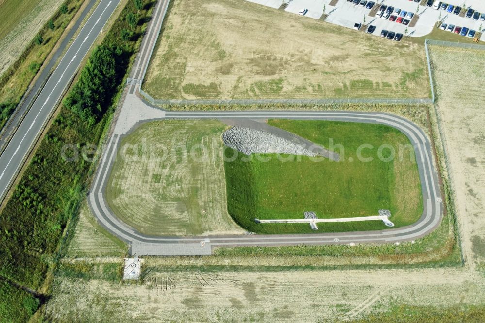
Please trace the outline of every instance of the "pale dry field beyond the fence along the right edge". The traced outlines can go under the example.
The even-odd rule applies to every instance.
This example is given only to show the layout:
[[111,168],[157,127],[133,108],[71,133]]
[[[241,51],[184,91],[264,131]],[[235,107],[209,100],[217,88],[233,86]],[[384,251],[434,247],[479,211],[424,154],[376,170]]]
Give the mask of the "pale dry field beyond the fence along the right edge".
[[464,252],[485,261],[485,50],[432,46],[430,54]]

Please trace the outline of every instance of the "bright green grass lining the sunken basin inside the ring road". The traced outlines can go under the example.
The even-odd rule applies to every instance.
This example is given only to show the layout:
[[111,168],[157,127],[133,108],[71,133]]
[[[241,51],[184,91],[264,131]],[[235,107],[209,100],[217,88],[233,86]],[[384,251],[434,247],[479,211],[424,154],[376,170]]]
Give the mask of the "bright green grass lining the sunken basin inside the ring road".
[[[314,232],[308,224],[256,224],[259,219],[302,219],[377,215],[391,210],[396,226],[416,222],[422,213],[420,178],[405,135],[383,125],[303,120],[270,120],[340,154],[340,161],[305,156],[239,154],[226,161],[228,210],[235,221],[259,233]],[[358,149],[366,145],[359,158]],[[391,159],[391,149],[396,156]],[[226,150],[228,159],[232,149]],[[366,161],[364,159],[372,159]],[[319,224],[320,232],[384,229],[381,221]]]

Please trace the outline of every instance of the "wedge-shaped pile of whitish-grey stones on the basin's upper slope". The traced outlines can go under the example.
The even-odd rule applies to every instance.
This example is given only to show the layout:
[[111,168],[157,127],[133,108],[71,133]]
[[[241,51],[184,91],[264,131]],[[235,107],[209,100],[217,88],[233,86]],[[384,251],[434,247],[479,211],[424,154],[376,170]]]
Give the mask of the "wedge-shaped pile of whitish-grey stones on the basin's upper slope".
[[222,140],[226,146],[248,156],[254,153],[317,156],[316,153],[302,145],[292,143],[269,132],[250,128],[232,127],[223,133]]

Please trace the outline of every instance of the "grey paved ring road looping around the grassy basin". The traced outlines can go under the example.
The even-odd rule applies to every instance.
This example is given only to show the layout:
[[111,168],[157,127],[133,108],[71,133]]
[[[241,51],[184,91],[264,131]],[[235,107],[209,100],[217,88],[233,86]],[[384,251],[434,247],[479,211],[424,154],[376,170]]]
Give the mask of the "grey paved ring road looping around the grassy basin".
[[[132,96],[132,94],[129,94]],[[162,113],[162,111],[160,110]],[[102,226],[120,239],[131,244],[132,254],[147,255],[190,255],[210,254],[211,247],[221,246],[283,246],[300,244],[342,244],[342,243],[391,243],[411,241],[425,236],[440,223],[443,204],[440,193],[438,173],[433,162],[432,146],[425,133],[409,120],[388,113],[359,112],[163,112],[163,117],[140,118],[137,125],[163,119],[213,119],[213,118],[278,118],[302,120],[332,120],[343,122],[373,123],[393,127],[403,132],[414,147],[423,196],[423,213],[420,219],[410,226],[376,231],[314,233],[314,234],[275,234],[275,235],[225,235],[168,237],[149,236],[122,223],[105,202],[106,183],[113,166],[120,139],[125,133],[114,131],[109,144],[105,147],[92,190],[89,204],[93,214]],[[141,115],[140,115],[141,116]],[[186,245],[186,248],[182,244]],[[173,247],[171,247],[173,246]],[[197,248],[198,247],[198,248]]]

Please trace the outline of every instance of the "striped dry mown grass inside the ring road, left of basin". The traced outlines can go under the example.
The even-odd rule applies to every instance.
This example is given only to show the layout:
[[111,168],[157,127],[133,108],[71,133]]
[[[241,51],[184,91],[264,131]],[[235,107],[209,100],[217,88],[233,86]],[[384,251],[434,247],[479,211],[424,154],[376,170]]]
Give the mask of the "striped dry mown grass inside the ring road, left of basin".
[[160,121],[124,138],[106,190],[116,215],[146,234],[242,233],[227,213],[216,120]]

